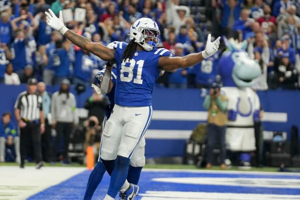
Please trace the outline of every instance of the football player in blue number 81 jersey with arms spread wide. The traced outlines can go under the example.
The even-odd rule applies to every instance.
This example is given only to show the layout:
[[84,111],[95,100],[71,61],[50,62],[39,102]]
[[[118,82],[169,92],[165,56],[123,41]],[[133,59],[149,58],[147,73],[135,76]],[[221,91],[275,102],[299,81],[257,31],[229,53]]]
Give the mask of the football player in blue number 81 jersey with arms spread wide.
[[[167,49],[156,48],[160,31],[156,22],[150,18],[140,18],[131,26],[129,44],[117,42],[114,49],[109,49],[68,30],[63,23],[61,11],[59,18],[51,9],[45,14],[47,24],[60,31],[76,46],[104,61],[117,64],[115,106],[105,125],[100,151],[104,160],[113,160],[118,155],[105,200],[114,200],[119,190],[124,192],[122,199],[133,200],[139,188],[126,182],[130,157],[150,124],[152,91],[159,72],[186,68],[203,61],[218,51],[220,37],[211,42],[209,34],[204,51],[172,58]],[[110,79],[111,67],[106,67],[101,83],[102,93],[111,89]]]

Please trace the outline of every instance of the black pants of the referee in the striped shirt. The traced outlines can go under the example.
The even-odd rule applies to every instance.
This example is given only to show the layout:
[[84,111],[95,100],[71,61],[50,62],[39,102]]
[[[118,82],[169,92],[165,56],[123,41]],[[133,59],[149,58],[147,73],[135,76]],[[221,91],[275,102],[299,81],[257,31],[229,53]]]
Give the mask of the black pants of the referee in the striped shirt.
[[28,144],[33,146],[35,162],[39,163],[42,161],[42,149],[41,149],[41,132],[40,123],[36,122],[25,122],[26,126],[20,128],[20,155],[21,155],[21,166],[24,166],[25,159],[27,156],[27,150],[31,148]]

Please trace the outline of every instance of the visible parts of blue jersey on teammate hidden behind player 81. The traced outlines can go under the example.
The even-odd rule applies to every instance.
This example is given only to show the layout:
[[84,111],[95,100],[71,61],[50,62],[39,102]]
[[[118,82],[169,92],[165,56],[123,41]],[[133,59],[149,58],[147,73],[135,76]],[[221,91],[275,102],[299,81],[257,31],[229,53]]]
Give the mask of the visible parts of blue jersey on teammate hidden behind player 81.
[[[100,85],[102,77],[104,75],[105,69],[101,70],[100,72],[97,73],[96,79],[98,84]],[[116,91],[116,84],[117,84],[117,69],[112,68],[111,70],[111,81],[114,84],[114,87],[110,90],[109,93],[106,94],[106,96],[109,99],[110,104],[105,108],[105,116],[107,119],[110,117],[111,111],[115,106],[115,91]]]

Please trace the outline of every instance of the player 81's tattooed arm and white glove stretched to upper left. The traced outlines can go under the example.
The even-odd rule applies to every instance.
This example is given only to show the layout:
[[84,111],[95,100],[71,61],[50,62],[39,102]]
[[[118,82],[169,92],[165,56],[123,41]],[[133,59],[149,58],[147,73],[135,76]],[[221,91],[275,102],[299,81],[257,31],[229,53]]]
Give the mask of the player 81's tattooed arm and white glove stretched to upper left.
[[49,13],[45,12],[46,23],[53,29],[60,31],[66,38],[80,48],[83,48],[95,54],[99,58],[108,62],[115,62],[115,50],[109,49],[99,43],[93,43],[89,39],[67,29],[63,23],[62,12],[60,11],[59,18],[49,9]]

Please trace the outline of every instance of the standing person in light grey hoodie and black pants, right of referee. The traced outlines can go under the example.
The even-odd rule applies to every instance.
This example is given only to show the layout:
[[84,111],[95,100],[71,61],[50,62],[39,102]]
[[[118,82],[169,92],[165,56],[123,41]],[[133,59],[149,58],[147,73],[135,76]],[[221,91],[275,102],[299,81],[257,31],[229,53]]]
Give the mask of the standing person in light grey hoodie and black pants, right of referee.
[[60,91],[54,92],[51,101],[52,126],[56,129],[56,137],[52,146],[51,162],[57,161],[57,151],[63,139],[63,163],[68,164],[68,148],[70,133],[75,124],[78,123],[76,114],[76,100],[74,94],[69,92],[70,81],[62,79]]

